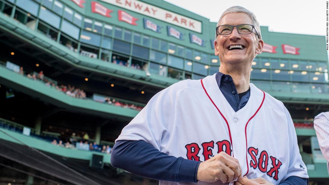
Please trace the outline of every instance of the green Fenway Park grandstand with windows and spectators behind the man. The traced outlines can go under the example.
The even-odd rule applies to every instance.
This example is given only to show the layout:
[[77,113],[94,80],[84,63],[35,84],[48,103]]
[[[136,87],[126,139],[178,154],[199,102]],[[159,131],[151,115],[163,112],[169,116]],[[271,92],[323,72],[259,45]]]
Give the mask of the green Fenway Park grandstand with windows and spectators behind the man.
[[[157,92],[218,71],[215,25],[163,0],[0,0],[0,184],[158,184],[113,168],[114,140]],[[291,113],[310,184],[328,184],[325,37],[261,32],[251,82]]]

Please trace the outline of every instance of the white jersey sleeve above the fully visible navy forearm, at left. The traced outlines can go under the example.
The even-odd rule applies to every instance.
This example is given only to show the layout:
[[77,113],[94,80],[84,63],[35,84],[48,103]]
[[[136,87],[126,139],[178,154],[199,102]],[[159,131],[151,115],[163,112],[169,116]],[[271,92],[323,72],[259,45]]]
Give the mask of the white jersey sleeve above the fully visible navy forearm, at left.
[[175,116],[175,86],[177,83],[153,96],[115,141],[142,140],[157,150],[165,148]]

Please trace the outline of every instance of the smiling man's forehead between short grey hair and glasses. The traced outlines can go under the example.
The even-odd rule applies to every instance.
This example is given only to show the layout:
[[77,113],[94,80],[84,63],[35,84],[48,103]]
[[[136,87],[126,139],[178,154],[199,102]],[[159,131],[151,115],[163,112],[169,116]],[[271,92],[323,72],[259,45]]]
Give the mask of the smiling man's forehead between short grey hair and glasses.
[[240,25],[240,24],[251,24],[253,25],[253,22],[250,18],[250,16],[244,12],[233,12],[225,14],[220,22],[219,25]]

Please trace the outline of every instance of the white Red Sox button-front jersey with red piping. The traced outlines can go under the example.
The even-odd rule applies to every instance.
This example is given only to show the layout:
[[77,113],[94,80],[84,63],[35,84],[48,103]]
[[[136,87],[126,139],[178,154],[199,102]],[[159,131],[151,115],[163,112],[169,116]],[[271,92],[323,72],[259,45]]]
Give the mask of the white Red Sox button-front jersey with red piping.
[[273,184],[289,176],[308,178],[283,103],[250,83],[247,104],[235,112],[215,75],[180,81],[157,93],[117,140],[143,140],[168,155],[199,161],[225,151],[239,160],[243,175]]

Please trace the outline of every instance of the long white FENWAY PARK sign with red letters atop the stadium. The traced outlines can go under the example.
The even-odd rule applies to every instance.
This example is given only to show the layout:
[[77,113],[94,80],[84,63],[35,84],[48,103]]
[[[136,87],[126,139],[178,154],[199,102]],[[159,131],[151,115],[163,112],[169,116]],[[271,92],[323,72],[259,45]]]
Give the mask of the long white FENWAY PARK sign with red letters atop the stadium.
[[201,33],[201,22],[137,0],[100,0]]

